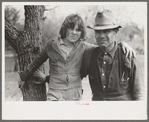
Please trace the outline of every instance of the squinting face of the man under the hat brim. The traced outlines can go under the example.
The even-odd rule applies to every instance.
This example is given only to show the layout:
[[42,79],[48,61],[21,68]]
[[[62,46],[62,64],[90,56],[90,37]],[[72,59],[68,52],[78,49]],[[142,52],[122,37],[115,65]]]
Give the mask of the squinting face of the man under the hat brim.
[[108,47],[114,43],[116,32],[112,29],[95,30],[96,42],[100,47]]

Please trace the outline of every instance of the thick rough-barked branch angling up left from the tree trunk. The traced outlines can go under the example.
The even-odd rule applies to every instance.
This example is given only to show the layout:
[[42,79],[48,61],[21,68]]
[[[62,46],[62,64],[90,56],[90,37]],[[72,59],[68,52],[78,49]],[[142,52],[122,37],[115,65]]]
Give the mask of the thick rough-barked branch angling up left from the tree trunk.
[[6,18],[5,18],[5,39],[9,42],[9,44],[13,47],[13,49],[17,52],[16,40],[20,31],[15,28]]

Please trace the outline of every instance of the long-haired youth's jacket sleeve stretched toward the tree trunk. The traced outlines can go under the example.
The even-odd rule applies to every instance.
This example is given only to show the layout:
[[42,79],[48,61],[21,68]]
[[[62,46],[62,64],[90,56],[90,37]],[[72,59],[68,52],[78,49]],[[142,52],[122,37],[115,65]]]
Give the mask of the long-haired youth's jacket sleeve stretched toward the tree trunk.
[[25,71],[20,72],[20,78],[22,81],[26,81],[28,78],[30,78],[35,70],[37,70],[47,59],[47,46],[42,50],[42,52],[33,60],[31,64],[28,65]]

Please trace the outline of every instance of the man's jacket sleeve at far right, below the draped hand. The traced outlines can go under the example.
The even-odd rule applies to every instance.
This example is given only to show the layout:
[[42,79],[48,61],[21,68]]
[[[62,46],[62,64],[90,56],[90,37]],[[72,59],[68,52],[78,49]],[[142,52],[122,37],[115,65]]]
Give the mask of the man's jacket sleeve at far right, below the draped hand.
[[133,100],[144,99],[144,78],[141,66],[136,58],[132,61],[132,88]]

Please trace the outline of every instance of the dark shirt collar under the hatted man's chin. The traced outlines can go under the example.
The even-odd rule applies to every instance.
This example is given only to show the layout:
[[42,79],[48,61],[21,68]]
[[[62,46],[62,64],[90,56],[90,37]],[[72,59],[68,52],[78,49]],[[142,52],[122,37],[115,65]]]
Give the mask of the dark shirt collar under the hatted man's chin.
[[104,51],[99,47],[99,57],[100,57],[102,54],[108,53],[112,58],[114,58],[116,49],[117,49],[117,42],[115,42],[114,47],[113,47],[110,51],[108,51],[108,52],[104,52]]

